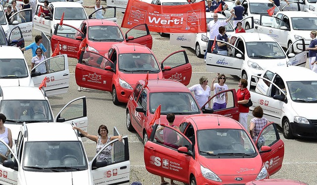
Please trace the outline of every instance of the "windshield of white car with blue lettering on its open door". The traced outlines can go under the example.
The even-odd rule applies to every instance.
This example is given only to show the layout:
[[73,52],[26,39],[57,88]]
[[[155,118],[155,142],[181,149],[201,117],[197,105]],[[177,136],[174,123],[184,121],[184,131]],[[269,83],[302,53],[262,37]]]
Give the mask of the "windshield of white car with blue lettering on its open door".
[[247,54],[252,59],[284,59],[283,49],[277,42],[246,42]]

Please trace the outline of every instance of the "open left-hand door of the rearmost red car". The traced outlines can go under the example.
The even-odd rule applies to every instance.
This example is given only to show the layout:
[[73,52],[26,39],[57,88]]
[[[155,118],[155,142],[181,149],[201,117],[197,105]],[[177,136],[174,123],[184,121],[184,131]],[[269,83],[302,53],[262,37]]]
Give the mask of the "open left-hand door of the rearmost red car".
[[63,24],[61,27],[57,24],[51,38],[52,51],[55,50],[59,42],[60,54],[67,54],[68,57],[77,59],[79,45],[84,37],[84,33],[73,26]]

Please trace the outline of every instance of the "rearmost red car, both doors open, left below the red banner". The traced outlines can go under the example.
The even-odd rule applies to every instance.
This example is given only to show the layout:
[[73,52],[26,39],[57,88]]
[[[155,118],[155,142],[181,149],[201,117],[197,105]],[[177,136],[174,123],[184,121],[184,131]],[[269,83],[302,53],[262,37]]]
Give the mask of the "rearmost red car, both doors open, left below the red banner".
[[152,36],[146,24],[131,28],[124,36],[116,22],[104,19],[87,19],[80,25],[80,29],[67,24],[63,24],[60,27],[57,24],[51,38],[52,51],[54,51],[59,41],[61,54],[77,58],[79,45],[85,37],[88,38],[88,50],[100,53],[101,55],[105,55],[114,43],[139,43],[150,49],[153,44]]

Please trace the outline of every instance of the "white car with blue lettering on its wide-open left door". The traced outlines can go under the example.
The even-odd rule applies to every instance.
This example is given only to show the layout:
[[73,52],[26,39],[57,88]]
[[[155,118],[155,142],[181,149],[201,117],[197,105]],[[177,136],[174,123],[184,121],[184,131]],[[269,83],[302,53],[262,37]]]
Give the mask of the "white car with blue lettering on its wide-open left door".
[[270,66],[306,65],[307,55],[303,39],[295,42],[297,46],[304,48],[302,52],[296,55],[290,53],[290,58],[274,38],[265,34],[239,33],[231,36],[230,44],[224,43],[229,45],[232,54],[229,52],[229,56],[225,56],[207,53],[208,72],[233,74],[248,79],[251,75],[261,75]]

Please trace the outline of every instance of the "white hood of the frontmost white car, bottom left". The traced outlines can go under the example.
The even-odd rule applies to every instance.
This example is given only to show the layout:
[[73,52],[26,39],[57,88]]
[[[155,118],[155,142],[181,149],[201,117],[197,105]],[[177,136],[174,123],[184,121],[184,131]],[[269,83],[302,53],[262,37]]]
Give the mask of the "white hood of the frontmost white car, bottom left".
[[26,185],[91,185],[88,170],[76,172],[24,171]]

